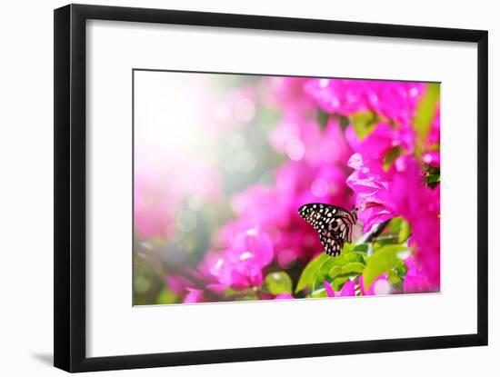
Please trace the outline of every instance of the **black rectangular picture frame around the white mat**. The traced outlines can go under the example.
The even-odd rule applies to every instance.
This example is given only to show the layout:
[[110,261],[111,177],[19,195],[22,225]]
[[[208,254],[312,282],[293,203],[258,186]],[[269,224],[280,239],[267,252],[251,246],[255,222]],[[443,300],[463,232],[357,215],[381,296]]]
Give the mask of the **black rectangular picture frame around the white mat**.
[[[197,352],[88,358],[85,355],[85,22],[99,19],[204,25],[336,35],[365,35],[477,45],[477,332],[448,336],[332,342]],[[488,33],[409,25],[382,25],[98,5],[55,9],[55,278],[54,364],[68,372],[245,362],[365,352],[487,345],[488,342]]]

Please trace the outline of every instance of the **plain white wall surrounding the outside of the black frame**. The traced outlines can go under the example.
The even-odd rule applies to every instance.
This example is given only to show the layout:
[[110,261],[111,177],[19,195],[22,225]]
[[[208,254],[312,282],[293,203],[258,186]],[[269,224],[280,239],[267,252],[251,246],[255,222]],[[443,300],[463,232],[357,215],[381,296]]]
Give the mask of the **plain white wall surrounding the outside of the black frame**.
[[[95,0],[97,1],[97,0]],[[87,3],[82,1],[81,3]],[[91,4],[94,2],[90,2]],[[500,371],[500,332],[494,295],[500,277],[493,240],[500,205],[494,197],[499,182],[493,174],[500,136],[493,107],[500,79],[495,62],[500,51],[500,24],[495,2],[370,1],[286,2],[231,0],[100,0],[102,5],[147,6],[255,15],[285,15],[406,25],[433,25],[490,31],[490,346],[425,352],[396,352],[273,362],[246,362],[143,371],[114,375],[250,376],[365,375],[462,376]],[[209,3],[209,4],[208,4]],[[64,1],[8,2],[2,6],[0,44],[0,374],[62,375],[52,364],[53,276],[53,14]],[[460,64],[460,62],[456,62]],[[498,66],[498,65],[496,65]],[[492,72],[493,71],[493,72]],[[465,151],[466,152],[466,151]],[[495,182],[496,181],[496,182]],[[473,198],[471,198],[473,199]],[[465,205],[468,198],[464,198]],[[494,218],[496,217],[496,218]],[[460,315],[457,313],[456,315]],[[411,325],[411,323],[408,323]],[[105,375],[97,372],[95,376]]]

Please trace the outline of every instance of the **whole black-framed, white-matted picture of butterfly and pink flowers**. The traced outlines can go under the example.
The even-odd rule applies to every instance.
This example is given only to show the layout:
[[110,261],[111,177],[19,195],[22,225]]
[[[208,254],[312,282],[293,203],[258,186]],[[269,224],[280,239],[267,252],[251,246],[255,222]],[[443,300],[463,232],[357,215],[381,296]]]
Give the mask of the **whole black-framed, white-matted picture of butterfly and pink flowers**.
[[56,9],[55,366],[486,345],[487,70],[482,30]]

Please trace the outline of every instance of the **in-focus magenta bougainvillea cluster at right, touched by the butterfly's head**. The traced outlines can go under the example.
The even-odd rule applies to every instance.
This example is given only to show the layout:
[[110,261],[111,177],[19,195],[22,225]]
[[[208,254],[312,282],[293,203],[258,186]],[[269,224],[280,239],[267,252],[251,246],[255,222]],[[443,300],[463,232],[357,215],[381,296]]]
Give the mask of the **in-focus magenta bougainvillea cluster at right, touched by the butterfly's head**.
[[[410,246],[415,249],[415,255],[406,261],[409,271],[405,292],[438,290],[440,190],[439,184],[434,188],[425,184],[423,163],[427,163],[427,154],[421,160],[413,154],[413,130],[393,130],[387,124],[377,124],[363,141],[352,132],[346,134],[351,135],[347,138],[355,151],[347,163],[354,169],[347,184],[356,195],[364,232],[375,224],[403,216],[410,224]],[[401,155],[387,168],[385,157],[396,146],[401,147]]]

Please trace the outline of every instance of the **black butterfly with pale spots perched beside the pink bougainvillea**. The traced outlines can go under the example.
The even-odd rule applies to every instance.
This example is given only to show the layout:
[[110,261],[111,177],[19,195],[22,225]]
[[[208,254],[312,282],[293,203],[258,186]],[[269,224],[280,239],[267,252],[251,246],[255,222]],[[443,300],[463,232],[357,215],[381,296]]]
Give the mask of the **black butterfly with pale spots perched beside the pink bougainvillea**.
[[357,222],[357,211],[330,204],[310,203],[301,206],[298,213],[319,233],[319,240],[330,256],[339,255],[344,243],[351,243],[353,227]]

